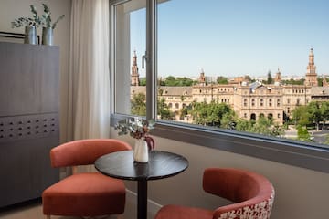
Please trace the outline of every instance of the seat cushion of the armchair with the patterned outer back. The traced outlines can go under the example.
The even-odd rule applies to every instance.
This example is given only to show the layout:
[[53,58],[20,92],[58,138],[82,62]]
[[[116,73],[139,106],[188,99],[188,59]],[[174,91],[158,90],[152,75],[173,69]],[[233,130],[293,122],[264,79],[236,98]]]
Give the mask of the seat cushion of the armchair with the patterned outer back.
[[155,219],[212,219],[213,211],[179,205],[165,205],[155,215]]

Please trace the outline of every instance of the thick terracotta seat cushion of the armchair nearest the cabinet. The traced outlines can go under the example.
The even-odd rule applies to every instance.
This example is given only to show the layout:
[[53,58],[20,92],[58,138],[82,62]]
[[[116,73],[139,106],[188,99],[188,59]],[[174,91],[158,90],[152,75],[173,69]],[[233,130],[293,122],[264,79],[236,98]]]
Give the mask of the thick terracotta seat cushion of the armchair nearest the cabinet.
[[71,175],[42,193],[43,213],[52,215],[96,216],[122,214],[125,187],[122,180],[99,172]]

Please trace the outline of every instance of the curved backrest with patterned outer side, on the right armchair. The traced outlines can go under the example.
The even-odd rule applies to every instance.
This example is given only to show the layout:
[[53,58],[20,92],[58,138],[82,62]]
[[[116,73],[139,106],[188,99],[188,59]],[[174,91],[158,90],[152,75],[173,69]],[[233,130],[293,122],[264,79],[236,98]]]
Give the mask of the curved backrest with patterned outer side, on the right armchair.
[[218,207],[214,211],[213,219],[270,218],[274,188],[268,179],[258,173],[239,169],[208,168],[204,172],[203,188],[207,193],[233,202]]

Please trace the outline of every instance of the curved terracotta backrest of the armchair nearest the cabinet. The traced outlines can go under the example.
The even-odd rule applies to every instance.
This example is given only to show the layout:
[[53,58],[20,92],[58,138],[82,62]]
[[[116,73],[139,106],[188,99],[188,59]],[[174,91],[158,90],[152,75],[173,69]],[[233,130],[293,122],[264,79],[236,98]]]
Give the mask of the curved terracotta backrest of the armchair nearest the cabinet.
[[115,139],[89,139],[69,141],[50,151],[52,167],[67,167],[93,164],[104,154],[132,150],[132,147]]

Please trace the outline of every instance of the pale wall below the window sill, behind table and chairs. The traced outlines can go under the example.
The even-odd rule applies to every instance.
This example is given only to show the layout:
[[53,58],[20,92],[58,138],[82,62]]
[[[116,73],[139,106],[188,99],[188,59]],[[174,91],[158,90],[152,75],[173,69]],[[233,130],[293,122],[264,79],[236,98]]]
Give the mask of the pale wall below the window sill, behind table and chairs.
[[[133,145],[130,137],[117,137],[115,130],[111,131],[111,136],[128,141]],[[207,167],[235,167],[259,172],[271,181],[276,191],[271,219],[329,218],[327,210],[328,173],[315,172],[180,141],[163,138],[154,140],[155,149],[182,154],[189,161],[186,172],[149,183],[148,196],[155,203],[162,205],[177,203],[215,209],[224,202],[218,197],[202,191],[203,170]],[[126,182],[126,184],[129,189],[136,191],[136,183]],[[153,211],[153,207],[156,208],[156,205],[152,202],[149,203],[151,211]],[[127,209],[127,211],[131,210]]]

